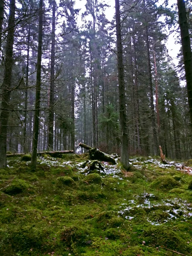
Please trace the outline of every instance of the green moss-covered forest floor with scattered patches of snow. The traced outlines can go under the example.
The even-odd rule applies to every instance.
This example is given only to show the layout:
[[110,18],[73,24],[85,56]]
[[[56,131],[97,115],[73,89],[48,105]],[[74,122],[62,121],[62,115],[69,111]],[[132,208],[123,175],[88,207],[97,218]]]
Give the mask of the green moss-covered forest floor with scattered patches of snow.
[[[192,176],[172,162],[133,157],[130,172],[88,156],[9,158],[0,169],[1,256],[192,255]],[[176,251],[174,253],[174,251]]]

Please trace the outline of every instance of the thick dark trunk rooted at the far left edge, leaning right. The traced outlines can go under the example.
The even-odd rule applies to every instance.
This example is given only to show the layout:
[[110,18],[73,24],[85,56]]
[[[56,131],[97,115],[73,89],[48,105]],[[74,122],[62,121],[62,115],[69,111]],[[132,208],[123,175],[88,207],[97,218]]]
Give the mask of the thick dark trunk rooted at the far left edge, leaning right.
[[15,32],[15,0],[9,4],[9,24],[6,43],[5,71],[2,84],[2,100],[0,113],[0,168],[6,167],[7,125],[9,119],[9,100],[11,94],[13,41]]

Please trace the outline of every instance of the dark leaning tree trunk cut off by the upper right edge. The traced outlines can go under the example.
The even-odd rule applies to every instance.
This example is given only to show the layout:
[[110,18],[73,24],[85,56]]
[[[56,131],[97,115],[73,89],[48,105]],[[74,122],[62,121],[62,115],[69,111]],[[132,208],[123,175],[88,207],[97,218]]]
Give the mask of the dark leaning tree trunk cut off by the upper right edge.
[[[181,35],[181,44],[183,50],[183,60],[186,74],[187,95],[189,102],[189,115],[192,129],[192,50],[189,38],[189,24],[187,22],[186,8],[184,0],[177,0],[179,13],[179,26]],[[191,134],[192,136],[192,134]]]

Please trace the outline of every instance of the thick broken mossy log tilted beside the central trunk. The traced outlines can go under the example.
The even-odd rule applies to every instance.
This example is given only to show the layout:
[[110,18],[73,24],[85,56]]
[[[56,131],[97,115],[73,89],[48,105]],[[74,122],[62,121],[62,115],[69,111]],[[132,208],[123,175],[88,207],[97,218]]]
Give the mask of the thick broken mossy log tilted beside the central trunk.
[[98,148],[91,148],[90,146],[87,146],[83,143],[79,143],[79,146],[89,151],[89,157],[91,160],[100,160],[100,161],[116,164],[116,161],[112,155],[106,154],[101,150],[99,150]]

